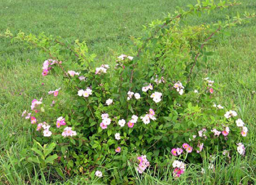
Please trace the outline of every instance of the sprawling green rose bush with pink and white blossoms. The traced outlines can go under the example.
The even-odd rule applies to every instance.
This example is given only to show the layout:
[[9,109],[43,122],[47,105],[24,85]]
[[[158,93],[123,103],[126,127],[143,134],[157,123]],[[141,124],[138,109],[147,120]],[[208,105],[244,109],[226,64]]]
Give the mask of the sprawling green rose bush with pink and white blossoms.
[[47,98],[32,100],[30,110],[23,112],[36,129],[35,139],[56,144],[55,153],[69,175],[101,177],[118,168],[128,177],[128,161],[143,173],[151,164],[166,165],[177,158],[183,161],[173,162],[178,177],[186,162],[201,162],[202,153],[228,150],[229,155],[244,155],[246,124],[234,105],[221,105],[218,86],[200,69],[212,55],[204,46],[213,36],[255,15],[212,26],[181,21],[236,4],[198,1],[187,11],[179,9],[164,21],[153,21],[145,37],[133,38],[131,56],[115,56],[115,65],[93,62],[96,55],[85,42],[68,45],[62,38],[22,32],[14,37],[7,31],[6,37],[49,54],[51,59],[42,64],[44,78],[63,78],[62,87],[49,91]]

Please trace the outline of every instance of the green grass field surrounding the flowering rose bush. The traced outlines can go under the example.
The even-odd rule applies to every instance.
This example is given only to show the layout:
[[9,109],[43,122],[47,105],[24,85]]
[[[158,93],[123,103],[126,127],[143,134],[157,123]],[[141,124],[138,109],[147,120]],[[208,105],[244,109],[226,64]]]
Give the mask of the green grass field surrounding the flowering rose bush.
[[[223,19],[225,14],[256,12],[255,0],[240,0],[241,6],[204,15],[201,23]],[[196,3],[195,0],[0,0],[0,32],[7,28],[17,33],[46,32],[67,40],[85,40],[90,51],[96,53],[99,63],[113,64],[109,56],[129,49],[129,37],[140,37],[142,25],[163,14],[173,12],[176,6]],[[193,24],[198,24],[196,19]],[[203,179],[203,184],[256,184],[256,20],[227,29],[229,37],[220,38],[212,47],[215,55],[203,71],[221,86],[223,104],[237,104],[241,119],[248,125],[251,153],[241,160],[232,159],[229,166],[216,164],[215,173],[201,175],[199,165],[191,165],[180,184],[191,179]],[[27,174],[20,158],[22,149],[32,145],[31,126],[23,123],[21,113],[31,103],[31,97],[43,97],[61,81],[41,76],[45,60],[37,49],[28,49],[22,43],[11,43],[0,38],[0,184],[47,184],[35,174]],[[47,89],[41,85],[47,84]],[[48,89],[49,88],[49,89]],[[206,164],[204,164],[206,165]],[[1,168],[2,166],[2,168]],[[207,168],[207,167],[206,167]],[[199,169],[199,172],[195,172]],[[29,179],[31,178],[31,179]],[[29,179],[29,180],[28,180]],[[226,183],[224,183],[226,182]],[[83,184],[80,177],[66,184]],[[92,182],[91,182],[92,183]],[[171,178],[158,176],[137,184],[168,184]],[[177,182],[175,182],[177,183]]]

